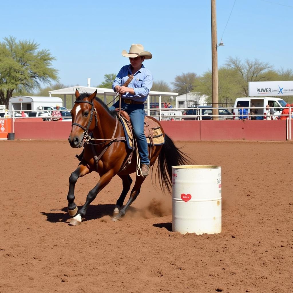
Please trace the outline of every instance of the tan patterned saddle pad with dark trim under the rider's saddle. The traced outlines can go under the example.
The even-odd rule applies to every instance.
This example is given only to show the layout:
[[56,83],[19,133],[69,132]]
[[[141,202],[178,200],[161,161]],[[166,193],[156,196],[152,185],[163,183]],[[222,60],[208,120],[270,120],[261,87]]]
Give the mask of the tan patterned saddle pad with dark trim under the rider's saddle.
[[[130,123],[127,123],[127,120],[123,116],[120,116],[120,122],[123,125],[127,147],[129,149],[134,149],[133,133],[132,128],[130,129]],[[144,118],[144,134],[147,138],[148,145],[160,145],[165,143],[160,125],[147,116]]]

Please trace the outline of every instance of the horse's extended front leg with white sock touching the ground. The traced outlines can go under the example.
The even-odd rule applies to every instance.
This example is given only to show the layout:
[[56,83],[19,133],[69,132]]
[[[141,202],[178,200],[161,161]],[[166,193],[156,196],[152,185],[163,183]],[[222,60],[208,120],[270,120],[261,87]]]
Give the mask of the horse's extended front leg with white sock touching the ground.
[[90,190],[90,192],[86,196],[86,202],[79,210],[79,213],[70,221],[70,225],[79,225],[81,223],[81,217],[86,214],[86,210],[88,209],[90,203],[96,198],[97,194],[111,181],[113,176],[113,169],[101,176],[97,185],[92,190]]

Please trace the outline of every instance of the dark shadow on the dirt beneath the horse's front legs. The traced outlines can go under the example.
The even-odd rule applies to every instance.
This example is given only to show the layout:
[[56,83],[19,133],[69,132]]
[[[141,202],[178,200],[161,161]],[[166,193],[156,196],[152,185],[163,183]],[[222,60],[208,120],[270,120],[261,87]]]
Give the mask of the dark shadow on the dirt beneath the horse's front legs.
[[[81,207],[79,207],[80,209]],[[86,218],[83,219],[83,222],[99,219],[104,216],[113,216],[113,210],[115,205],[113,204],[104,204],[104,205],[90,205],[86,212]],[[62,209],[51,209],[50,212],[40,212],[41,214],[47,217],[46,221],[50,223],[58,222],[67,222],[68,219],[71,219],[67,212],[67,207]]]

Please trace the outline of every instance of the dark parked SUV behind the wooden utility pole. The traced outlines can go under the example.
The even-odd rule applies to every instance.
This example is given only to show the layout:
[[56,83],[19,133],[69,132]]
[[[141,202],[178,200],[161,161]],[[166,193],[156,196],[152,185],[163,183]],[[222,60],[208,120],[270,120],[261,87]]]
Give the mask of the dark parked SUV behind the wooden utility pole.
[[[196,108],[190,108],[183,113],[184,116],[195,115],[197,117],[184,117],[182,120],[200,120],[200,112],[202,120],[212,120],[215,116],[209,116],[213,114],[212,106],[198,106]],[[233,119],[232,113],[226,108],[219,108],[219,120]]]

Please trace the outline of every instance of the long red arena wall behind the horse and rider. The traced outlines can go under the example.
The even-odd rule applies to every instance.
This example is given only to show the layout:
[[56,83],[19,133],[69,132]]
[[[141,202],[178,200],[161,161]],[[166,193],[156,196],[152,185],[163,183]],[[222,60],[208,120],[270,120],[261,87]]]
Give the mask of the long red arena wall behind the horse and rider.
[[[68,139],[71,122],[14,122],[15,139]],[[165,133],[173,140],[286,140],[285,120],[161,121]],[[293,122],[291,121],[293,139]],[[288,130],[289,137],[289,130]]]

